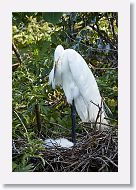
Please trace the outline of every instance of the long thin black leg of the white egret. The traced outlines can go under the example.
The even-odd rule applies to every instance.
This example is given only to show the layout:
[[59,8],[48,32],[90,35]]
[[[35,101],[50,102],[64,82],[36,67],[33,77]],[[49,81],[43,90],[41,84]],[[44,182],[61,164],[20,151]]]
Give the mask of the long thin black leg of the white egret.
[[72,142],[76,143],[76,108],[74,104],[74,100],[71,105],[71,118],[72,118]]

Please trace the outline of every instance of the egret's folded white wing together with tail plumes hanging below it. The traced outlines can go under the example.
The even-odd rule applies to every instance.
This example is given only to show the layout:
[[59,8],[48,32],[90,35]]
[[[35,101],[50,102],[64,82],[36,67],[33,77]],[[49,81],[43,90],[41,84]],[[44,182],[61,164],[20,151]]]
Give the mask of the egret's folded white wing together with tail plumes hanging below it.
[[[82,121],[95,121],[101,105],[101,96],[97,82],[92,71],[79,53],[72,49],[65,51],[67,52],[72,80],[79,90],[79,96],[75,98],[77,112]],[[104,118],[104,114],[102,114],[102,118]]]

